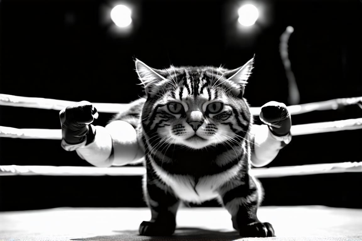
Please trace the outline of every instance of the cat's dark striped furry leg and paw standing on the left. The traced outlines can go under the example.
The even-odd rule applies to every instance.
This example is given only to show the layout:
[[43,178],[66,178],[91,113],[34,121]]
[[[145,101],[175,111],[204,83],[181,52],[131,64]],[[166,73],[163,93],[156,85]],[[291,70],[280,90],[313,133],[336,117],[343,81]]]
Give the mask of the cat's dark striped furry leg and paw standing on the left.
[[144,196],[151,208],[151,220],[143,221],[139,234],[144,236],[169,236],[176,228],[179,200],[159,177],[147,174]]

